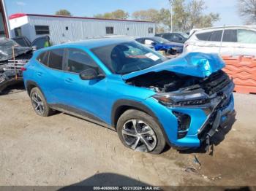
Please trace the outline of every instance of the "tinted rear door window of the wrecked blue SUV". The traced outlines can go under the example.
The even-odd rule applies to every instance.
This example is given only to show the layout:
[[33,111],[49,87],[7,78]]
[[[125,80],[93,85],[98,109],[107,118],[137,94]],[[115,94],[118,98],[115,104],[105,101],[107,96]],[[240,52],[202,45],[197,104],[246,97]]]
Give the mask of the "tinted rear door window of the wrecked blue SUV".
[[64,49],[56,49],[49,51],[48,67],[51,69],[62,69],[62,60],[64,55]]

